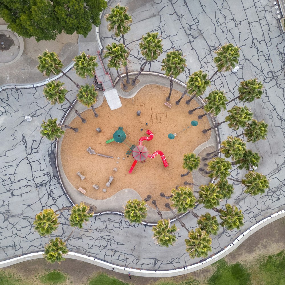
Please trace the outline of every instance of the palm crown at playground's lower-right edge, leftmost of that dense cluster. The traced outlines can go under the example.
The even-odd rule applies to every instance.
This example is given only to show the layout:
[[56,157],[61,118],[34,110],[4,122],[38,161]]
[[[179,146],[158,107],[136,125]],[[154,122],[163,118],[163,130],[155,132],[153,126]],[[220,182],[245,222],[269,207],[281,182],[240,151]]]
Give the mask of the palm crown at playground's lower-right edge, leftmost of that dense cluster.
[[178,213],[185,213],[189,209],[193,209],[197,199],[193,195],[193,191],[188,187],[178,187],[171,190],[172,197],[170,201],[173,207],[177,208]]

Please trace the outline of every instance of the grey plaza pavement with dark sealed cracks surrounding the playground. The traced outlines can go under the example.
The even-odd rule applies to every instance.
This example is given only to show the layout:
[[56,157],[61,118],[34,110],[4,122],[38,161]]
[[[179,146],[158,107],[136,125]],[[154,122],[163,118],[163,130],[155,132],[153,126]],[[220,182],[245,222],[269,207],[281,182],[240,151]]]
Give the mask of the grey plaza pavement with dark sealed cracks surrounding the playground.
[[[117,1],[108,2],[111,7],[116,4]],[[229,99],[232,99],[238,95],[237,88],[243,80],[257,77],[264,84],[262,98],[246,105],[251,107],[254,119],[264,119],[268,124],[268,136],[264,141],[247,143],[247,148],[260,154],[257,171],[270,180],[270,189],[261,196],[252,197],[243,193],[239,184],[235,184],[232,198],[224,200],[221,207],[226,203],[237,205],[244,213],[245,224],[241,230],[233,231],[220,227],[218,235],[213,237],[210,256],[224,249],[264,217],[285,209],[285,41],[278,27],[273,1],[122,0],[120,4],[129,7],[128,13],[133,17],[131,31],[125,35],[126,46],[130,50],[129,71],[139,70],[144,62],[138,46],[141,35],[157,31],[162,36],[164,52],[178,49],[186,56],[187,68],[178,77],[182,82],[199,69],[211,76],[216,69],[213,51],[227,42],[241,48],[240,68],[237,73],[218,73],[212,80],[211,90],[225,90]],[[107,44],[120,40],[107,31],[107,23],[103,18],[106,13],[109,13],[109,8],[103,12],[99,28],[103,49]],[[96,42],[95,37],[93,40]],[[90,44],[90,50],[96,52],[94,42],[90,40],[81,45],[79,42],[79,51],[85,50]],[[145,71],[161,72],[164,56],[165,53],[157,62],[148,64]],[[103,63],[107,67],[107,61],[103,60]],[[116,71],[107,69],[107,72],[114,81]],[[85,82],[73,70],[68,75],[80,84]],[[65,78],[60,80],[65,82],[68,90],[76,89]],[[91,84],[93,80],[89,81]],[[116,88],[120,88],[119,84]],[[49,238],[40,237],[34,231],[32,223],[36,213],[44,208],[56,210],[71,205],[57,176],[55,143],[43,139],[39,132],[42,120],[58,118],[60,121],[68,105],[50,105],[42,91],[43,86],[0,91],[0,261],[42,251]],[[75,97],[76,90],[69,93],[70,100]],[[174,103],[176,99],[171,100]],[[232,102],[228,109],[237,103]],[[182,101],[180,104],[185,103]],[[225,111],[217,120],[223,121],[226,115]],[[25,121],[25,116],[31,116],[32,121]],[[221,141],[229,134],[241,133],[228,129],[226,124],[220,126],[219,132]],[[233,169],[231,177],[241,179],[245,173]],[[212,215],[217,214],[208,211]],[[205,213],[205,209],[199,205],[195,212],[200,215]],[[196,227],[196,219],[191,214],[185,215],[182,220],[188,228]],[[131,225],[121,215],[104,214],[91,218],[83,229],[76,229],[68,241],[68,249],[116,265],[148,270],[172,270],[200,262],[201,258],[190,259],[185,251],[187,232],[178,222],[175,224],[179,228],[176,244],[165,248],[152,239],[149,225]],[[60,215],[59,229],[51,237],[65,237],[71,231],[68,214],[64,212]]]

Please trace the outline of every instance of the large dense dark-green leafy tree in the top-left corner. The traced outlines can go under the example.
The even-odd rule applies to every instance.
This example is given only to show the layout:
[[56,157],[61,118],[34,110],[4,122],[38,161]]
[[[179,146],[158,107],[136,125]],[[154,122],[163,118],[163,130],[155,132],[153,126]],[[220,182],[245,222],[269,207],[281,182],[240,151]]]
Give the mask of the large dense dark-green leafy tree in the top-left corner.
[[87,36],[100,25],[100,13],[107,8],[105,0],[1,0],[0,17],[8,28],[36,41],[55,40],[62,32]]

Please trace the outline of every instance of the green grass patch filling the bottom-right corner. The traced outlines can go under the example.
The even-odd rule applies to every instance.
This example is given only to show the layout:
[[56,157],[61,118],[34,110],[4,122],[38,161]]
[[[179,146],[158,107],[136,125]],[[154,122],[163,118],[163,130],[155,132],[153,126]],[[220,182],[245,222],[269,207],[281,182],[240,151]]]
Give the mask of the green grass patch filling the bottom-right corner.
[[285,284],[285,251],[257,260],[258,268],[252,280],[254,284]]

